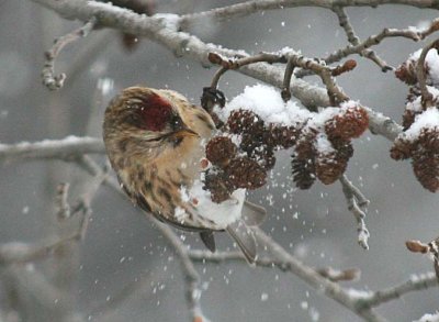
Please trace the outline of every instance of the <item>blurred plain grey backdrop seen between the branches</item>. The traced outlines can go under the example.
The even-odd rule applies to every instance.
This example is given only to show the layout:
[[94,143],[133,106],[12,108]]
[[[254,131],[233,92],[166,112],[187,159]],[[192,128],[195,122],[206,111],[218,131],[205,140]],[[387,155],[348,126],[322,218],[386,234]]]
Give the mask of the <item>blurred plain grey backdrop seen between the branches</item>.
[[[157,1],[155,12],[187,13],[239,1]],[[383,27],[419,26],[436,18],[432,10],[383,5],[347,10],[361,38]],[[127,49],[117,31],[98,30],[68,45],[56,60],[55,73],[66,73],[65,87],[49,92],[41,84],[43,53],[55,37],[80,26],[32,1],[0,1],[0,143],[63,138],[67,135],[101,136],[102,113],[122,88],[147,85],[171,88],[199,102],[202,88],[215,68],[176,58],[148,40]],[[324,57],[347,45],[336,15],[323,9],[296,8],[257,13],[221,24],[205,22],[191,30],[206,43],[248,53],[278,51],[285,46],[308,57]],[[397,66],[421,47],[405,38],[385,40],[374,47],[390,65]],[[338,78],[354,100],[397,122],[407,87],[393,73],[353,57],[358,67]],[[316,78],[306,78],[318,85]],[[109,91],[102,96],[102,84]],[[229,71],[219,82],[228,99],[256,80]],[[294,188],[289,153],[278,155],[270,185],[249,199],[269,211],[262,229],[307,265],[357,267],[359,281],[346,287],[376,290],[410,275],[430,271],[431,262],[406,251],[408,238],[430,241],[438,235],[438,199],[424,190],[408,162],[390,158],[391,142],[370,132],[354,141],[348,175],[371,200],[367,224],[370,251],[357,244],[356,221],[347,210],[339,184],[315,184],[307,191]],[[100,164],[103,157],[95,157]],[[0,165],[0,243],[34,242],[56,234],[56,186],[68,181],[72,193],[81,191],[87,175],[59,160]],[[75,199],[75,197],[72,197]],[[130,201],[103,187],[92,203],[92,221],[70,269],[75,280],[74,306],[88,321],[188,321],[184,284],[178,258],[150,222]],[[179,235],[181,233],[179,232]],[[181,234],[191,247],[196,236]],[[218,234],[218,248],[232,246]],[[41,264],[50,271],[50,262]],[[203,312],[212,321],[360,321],[333,300],[316,293],[297,277],[278,269],[249,268],[246,264],[198,264],[204,292]],[[105,302],[126,285],[145,285],[115,311]],[[3,279],[0,298],[4,297]],[[413,321],[438,309],[438,289],[414,292],[381,306],[390,321]],[[25,321],[55,321],[37,306]]]

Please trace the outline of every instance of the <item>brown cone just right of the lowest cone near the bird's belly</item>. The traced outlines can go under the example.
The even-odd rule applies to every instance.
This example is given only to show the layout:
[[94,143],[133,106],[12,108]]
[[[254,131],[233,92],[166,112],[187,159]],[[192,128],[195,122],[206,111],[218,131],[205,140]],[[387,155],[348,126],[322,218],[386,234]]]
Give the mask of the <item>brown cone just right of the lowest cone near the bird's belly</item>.
[[254,159],[236,157],[225,169],[227,178],[236,188],[257,189],[267,180],[266,170]]

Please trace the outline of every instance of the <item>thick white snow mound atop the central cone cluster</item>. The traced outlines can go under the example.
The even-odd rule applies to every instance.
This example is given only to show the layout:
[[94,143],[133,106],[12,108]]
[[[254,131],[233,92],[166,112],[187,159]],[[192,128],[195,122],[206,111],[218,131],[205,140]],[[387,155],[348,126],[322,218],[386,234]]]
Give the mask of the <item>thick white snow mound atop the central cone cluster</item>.
[[251,110],[266,123],[278,123],[282,125],[295,125],[305,122],[312,113],[300,108],[295,102],[284,102],[280,91],[266,85],[247,86],[244,92],[235,97],[223,109],[215,109],[215,112],[223,121],[234,110]]

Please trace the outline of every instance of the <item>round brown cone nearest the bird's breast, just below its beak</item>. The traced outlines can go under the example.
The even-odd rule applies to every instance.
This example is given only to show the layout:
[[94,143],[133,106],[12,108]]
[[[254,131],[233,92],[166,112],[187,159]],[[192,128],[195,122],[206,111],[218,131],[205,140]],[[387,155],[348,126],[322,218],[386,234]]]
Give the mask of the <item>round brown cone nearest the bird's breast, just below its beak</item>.
[[216,136],[207,143],[205,152],[213,165],[223,168],[235,157],[237,146],[227,136]]

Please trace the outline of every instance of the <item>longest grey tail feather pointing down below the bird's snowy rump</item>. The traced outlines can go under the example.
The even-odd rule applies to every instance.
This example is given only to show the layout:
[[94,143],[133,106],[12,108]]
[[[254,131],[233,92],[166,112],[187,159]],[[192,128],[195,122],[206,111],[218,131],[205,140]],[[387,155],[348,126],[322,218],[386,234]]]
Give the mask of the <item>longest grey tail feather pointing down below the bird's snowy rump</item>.
[[226,231],[234,238],[243,251],[249,264],[256,260],[256,238],[251,227],[247,226],[243,220],[237,220],[226,227]]

